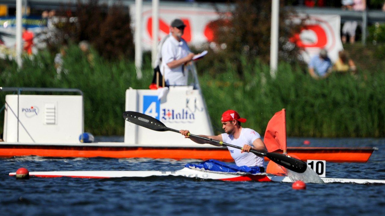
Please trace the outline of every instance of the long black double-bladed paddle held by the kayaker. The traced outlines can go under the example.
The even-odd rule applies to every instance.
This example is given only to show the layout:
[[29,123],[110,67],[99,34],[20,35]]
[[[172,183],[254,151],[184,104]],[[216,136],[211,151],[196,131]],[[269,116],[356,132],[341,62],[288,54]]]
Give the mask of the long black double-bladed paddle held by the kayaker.
[[[123,113],[123,118],[126,121],[134,123],[135,125],[139,125],[139,126],[142,126],[142,127],[154,130],[154,131],[173,131],[176,133],[180,133],[179,130],[167,128],[166,125],[164,125],[161,121],[157,120],[156,118],[152,118],[151,116],[145,115],[143,113],[138,113],[138,112],[134,112],[134,111],[126,111]],[[224,143],[222,141],[213,140],[213,139],[206,138],[203,136],[198,136],[198,135],[193,135],[193,134],[189,134],[189,136],[199,138],[202,140],[206,140],[206,141],[210,141],[210,142],[214,142],[214,143],[219,143],[221,145],[230,146],[233,148],[242,149],[242,147],[234,146],[234,145],[231,145],[228,143]],[[290,169],[292,171],[295,171],[297,173],[305,172],[306,168],[308,167],[305,162],[298,160],[297,158],[292,158],[288,155],[283,155],[283,154],[275,153],[275,152],[264,153],[264,152],[256,151],[253,149],[250,150],[250,152],[252,152],[258,156],[261,156],[261,157],[267,157],[270,160],[274,161],[275,163],[280,164],[281,166],[283,166],[287,169]]]

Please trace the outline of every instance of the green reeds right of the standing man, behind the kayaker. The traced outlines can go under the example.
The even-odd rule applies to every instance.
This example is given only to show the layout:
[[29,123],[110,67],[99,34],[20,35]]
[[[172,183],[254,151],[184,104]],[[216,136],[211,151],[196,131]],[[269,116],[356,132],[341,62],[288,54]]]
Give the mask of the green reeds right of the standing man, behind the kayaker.
[[223,111],[237,110],[248,118],[243,126],[264,134],[270,118],[286,109],[288,136],[383,137],[385,135],[384,74],[358,71],[315,80],[296,66],[280,63],[276,78],[256,61],[244,65],[244,79],[235,71],[201,76],[201,86],[217,133]]

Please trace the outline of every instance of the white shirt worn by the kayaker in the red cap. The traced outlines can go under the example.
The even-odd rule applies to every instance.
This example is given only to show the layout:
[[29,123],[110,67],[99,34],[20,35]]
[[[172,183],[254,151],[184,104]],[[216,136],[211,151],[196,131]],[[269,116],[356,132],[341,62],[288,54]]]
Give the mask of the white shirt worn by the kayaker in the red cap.
[[[261,138],[261,135],[259,135],[259,133],[257,133],[256,131],[250,128],[242,128],[241,135],[239,136],[238,139],[234,139],[233,135],[228,135],[227,133],[222,134],[223,142],[229,143],[231,145],[239,146],[239,147],[243,147],[244,144],[254,147],[253,141],[258,138]],[[263,167],[263,164],[264,164],[263,157],[258,157],[251,152],[241,153],[241,150],[238,148],[233,148],[230,146],[227,146],[227,148],[230,151],[231,157],[233,157],[235,164],[237,166]]]

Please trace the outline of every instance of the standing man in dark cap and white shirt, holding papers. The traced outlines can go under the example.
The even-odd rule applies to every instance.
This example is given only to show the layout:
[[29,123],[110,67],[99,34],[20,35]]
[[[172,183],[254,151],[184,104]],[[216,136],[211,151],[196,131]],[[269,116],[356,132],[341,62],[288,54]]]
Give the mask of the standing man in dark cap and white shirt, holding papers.
[[187,71],[184,65],[192,60],[192,53],[182,38],[184,31],[183,21],[175,19],[171,22],[170,37],[168,37],[161,48],[162,63],[160,70],[166,86],[187,85]]

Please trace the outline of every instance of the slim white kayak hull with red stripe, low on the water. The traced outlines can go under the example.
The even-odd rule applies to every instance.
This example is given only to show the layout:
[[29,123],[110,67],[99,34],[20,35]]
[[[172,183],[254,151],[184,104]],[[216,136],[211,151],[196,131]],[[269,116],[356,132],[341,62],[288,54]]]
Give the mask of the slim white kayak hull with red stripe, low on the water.
[[[9,173],[15,176],[16,173]],[[292,183],[288,176],[274,174],[236,174],[236,173],[215,173],[183,168],[176,171],[44,171],[29,172],[31,177],[56,178],[142,178],[150,176],[184,176],[188,178],[215,179],[223,181],[266,181]],[[376,179],[348,179],[348,178],[321,178],[325,183],[356,183],[356,184],[385,184],[385,180]]]

